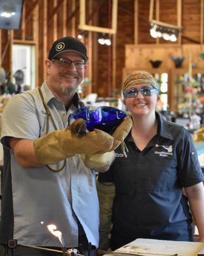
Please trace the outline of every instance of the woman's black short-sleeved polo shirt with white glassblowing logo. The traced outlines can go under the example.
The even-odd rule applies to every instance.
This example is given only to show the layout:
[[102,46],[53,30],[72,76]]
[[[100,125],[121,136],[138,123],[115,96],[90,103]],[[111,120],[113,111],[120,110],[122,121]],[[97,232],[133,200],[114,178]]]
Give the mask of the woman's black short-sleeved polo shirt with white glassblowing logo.
[[128,157],[115,150],[100,182],[115,183],[112,249],[136,238],[193,241],[191,213],[182,187],[203,181],[194,143],[184,127],[156,113],[158,132],[140,151],[129,132]]

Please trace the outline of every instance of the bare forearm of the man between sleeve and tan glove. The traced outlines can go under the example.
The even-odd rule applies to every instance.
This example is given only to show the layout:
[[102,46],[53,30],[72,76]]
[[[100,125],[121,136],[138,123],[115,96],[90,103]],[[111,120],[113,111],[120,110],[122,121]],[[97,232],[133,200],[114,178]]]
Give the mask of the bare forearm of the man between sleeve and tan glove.
[[33,168],[43,166],[36,154],[34,153],[34,146],[32,140],[11,138],[9,141],[11,150],[13,151],[18,164],[24,168]]

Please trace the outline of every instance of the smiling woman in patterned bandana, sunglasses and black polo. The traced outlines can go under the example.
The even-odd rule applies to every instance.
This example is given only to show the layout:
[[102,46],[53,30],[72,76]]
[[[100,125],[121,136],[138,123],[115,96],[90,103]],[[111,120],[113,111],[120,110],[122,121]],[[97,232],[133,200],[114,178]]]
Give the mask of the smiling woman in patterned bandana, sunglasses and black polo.
[[203,174],[191,136],[155,111],[159,89],[148,72],[129,74],[122,93],[133,120],[125,140],[127,157],[117,148],[110,170],[98,177],[103,191],[104,185],[115,185],[112,250],[139,237],[193,241],[191,212],[204,242]]

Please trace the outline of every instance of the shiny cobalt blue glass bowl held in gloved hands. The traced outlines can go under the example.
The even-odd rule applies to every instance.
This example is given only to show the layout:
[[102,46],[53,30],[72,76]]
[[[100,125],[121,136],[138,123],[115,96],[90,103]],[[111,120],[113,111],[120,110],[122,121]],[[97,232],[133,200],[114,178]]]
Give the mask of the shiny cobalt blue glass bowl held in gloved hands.
[[100,129],[112,134],[112,132],[127,115],[124,113],[124,111],[113,107],[102,106],[95,110],[91,110],[86,106],[77,109],[71,114],[71,116],[75,120],[78,118],[83,118],[89,131]]

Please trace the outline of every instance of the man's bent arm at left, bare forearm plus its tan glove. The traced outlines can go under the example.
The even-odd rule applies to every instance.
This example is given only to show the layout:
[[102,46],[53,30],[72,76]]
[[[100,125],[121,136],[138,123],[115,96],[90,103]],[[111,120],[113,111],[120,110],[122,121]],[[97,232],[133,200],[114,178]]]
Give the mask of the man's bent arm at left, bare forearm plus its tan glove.
[[88,153],[92,155],[98,152],[101,154],[101,152],[110,150],[113,138],[106,132],[94,130],[82,135],[73,134],[71,129],[79,122],[84,123],[85,121],[77,120],[65,130],[52,131],[34,141],[11,138],[10,148],[18,163],[24,168],[56,164],[68,157],[75,156],[75,154]]

